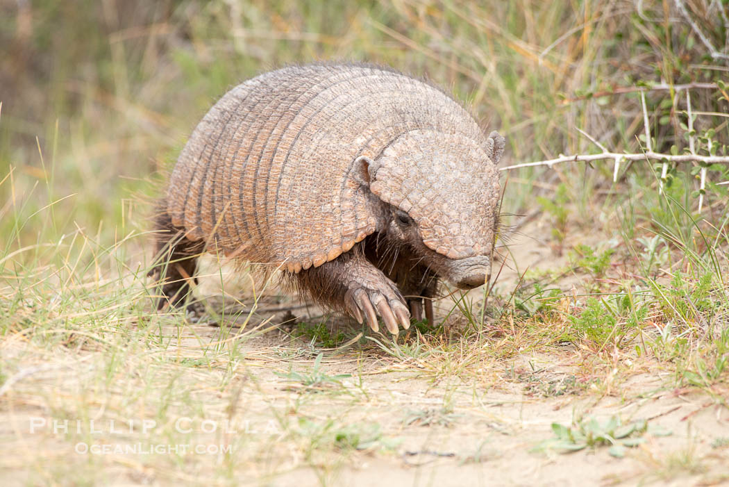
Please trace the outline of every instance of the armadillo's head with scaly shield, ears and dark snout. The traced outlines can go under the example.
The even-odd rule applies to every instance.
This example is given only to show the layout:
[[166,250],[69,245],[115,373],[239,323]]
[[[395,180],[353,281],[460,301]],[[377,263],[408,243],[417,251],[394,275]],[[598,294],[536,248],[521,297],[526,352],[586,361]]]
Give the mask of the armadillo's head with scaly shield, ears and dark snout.
[[389,203],[390,237],[409,244],[461,289],[488,282],[499,212],[496,163],[504,138],[412,130],[367,168],[370,190]]

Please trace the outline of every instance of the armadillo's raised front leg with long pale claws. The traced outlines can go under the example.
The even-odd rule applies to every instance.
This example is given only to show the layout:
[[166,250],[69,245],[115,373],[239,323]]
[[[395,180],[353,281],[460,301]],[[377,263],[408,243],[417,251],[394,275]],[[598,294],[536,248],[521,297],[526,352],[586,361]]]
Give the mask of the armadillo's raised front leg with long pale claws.
[[398,324],[410,327],[410,311],[397,286],[356,249],[318,268],[293,276],[300,291],[313,300],[367,320],[375,332],[378,316],[397,335]]

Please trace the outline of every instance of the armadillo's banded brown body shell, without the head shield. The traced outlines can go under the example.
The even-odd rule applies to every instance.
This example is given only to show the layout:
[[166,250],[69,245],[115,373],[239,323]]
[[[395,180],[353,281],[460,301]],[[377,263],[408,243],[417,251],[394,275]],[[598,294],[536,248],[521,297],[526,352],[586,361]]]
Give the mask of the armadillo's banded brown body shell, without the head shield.
[[168,212],[187,238],[298,272],[375,231],[354,160],[409,130],[461,134],[477,123],[426,82],[375,66],[290,66],[225,94],[171,175]]

